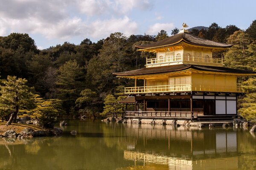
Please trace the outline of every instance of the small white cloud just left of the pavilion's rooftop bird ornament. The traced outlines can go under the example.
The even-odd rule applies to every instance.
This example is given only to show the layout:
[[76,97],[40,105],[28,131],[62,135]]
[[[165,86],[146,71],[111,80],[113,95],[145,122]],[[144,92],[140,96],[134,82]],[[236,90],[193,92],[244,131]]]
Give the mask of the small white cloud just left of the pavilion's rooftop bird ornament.
[[174,28],[173,23],[155,23],[154,25],[152,25],[148,28],[148,31],[146,33],[153,35],[153,34],[157,34],[162,29],[167,32],[170,32],[170,31],[172,31],[173,28]]

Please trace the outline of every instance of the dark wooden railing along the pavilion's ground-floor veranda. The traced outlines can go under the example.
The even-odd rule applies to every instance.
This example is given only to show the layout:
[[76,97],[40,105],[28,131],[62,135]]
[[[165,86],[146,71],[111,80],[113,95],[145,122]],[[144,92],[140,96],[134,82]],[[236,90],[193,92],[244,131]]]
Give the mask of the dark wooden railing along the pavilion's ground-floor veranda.
[[197,117],[197,113],[187,111],[126,111],[126,117],[170,117],[191,118]]

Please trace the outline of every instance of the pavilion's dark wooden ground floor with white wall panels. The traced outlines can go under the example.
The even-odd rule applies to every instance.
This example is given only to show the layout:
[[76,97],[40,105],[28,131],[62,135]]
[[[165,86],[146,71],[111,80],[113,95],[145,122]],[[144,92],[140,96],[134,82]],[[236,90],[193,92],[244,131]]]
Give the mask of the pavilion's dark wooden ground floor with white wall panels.
[[126,118],[232,119],[237,117],[238,93],[173,93],[134,95]]

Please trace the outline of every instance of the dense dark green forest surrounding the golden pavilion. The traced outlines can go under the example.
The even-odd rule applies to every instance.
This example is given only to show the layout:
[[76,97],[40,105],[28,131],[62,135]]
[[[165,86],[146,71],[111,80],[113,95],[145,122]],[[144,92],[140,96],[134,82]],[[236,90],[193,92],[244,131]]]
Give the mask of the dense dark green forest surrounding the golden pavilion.
[[[171,35],[178,31],[173,29]],[[256,20],[246,30],[234,25],[221,28],[212,23],[208,30],[192,29],[191,33],[234,44],[215,57],[224,57],[226,67],[256,71]],[[126,37],[116,32],[98,42],[86,38],[79,45],[64,42],[44,50],[38,50],[28,34],[0,37],[0,119],[9,119],[11,113],[42,119],[121,113],[122,105],[117,101],[124,98],[122,89],[134,82],[118,79],[112,73],[143,68],[145,57],[154,54],[138,52],[134,45],[168,36],[164,30],[153,36]],[[256,78],[241,78],[238,83],[251,92],[239,100],[239,112],[248,120],[255,120]]]

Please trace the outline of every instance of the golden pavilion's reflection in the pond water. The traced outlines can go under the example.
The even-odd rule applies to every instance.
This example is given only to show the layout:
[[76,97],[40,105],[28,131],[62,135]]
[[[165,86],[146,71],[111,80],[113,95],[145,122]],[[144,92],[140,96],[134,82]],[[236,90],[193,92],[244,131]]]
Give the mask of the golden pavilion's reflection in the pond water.
[[169,170],[231,170],[238,167],[237,132],[233,129],[128,126],[126,134],[134,136],[134,140],[129,145],[132,149],[124,151],[124,159],[134,164],[165,164]]

